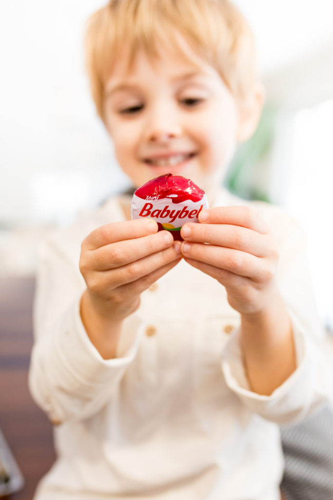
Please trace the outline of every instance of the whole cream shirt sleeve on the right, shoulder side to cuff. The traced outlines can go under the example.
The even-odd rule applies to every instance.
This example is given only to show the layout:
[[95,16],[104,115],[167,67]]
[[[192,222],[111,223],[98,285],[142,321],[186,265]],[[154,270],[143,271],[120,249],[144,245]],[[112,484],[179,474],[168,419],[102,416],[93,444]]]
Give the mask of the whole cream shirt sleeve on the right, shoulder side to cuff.
[[251,390],[247,379],[240,328],[231,335],[222,355],[222,371],[229,388],[251,411],[279,424],[302,420],[328,402],[333,383],[328,339],[311,283],[305,233],[295,221],[284,221],[284,225],[288,237],[280,244],[277,279],[292,321],[297,368],[271,395],[261,395]]

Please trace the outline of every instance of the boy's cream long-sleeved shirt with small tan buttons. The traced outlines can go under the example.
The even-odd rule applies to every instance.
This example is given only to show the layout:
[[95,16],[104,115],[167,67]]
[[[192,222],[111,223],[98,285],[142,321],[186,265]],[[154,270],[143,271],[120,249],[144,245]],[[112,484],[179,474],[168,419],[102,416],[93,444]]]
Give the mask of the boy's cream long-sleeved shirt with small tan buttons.
[[80,319],[78,261],[93,229],[124,219],[113,198],[41,249],[29,383],[61,424],[58,458],[35,500],[280,498],[278,424],[325,402],[332,383],[304,234],[278,207],[225,190],[216,204],[250,204],[274,230],[297,370],[270,396],[252,392],[239,313],[218,281],[183,260],[142,294],[124,321],[117,357],[104,360]]

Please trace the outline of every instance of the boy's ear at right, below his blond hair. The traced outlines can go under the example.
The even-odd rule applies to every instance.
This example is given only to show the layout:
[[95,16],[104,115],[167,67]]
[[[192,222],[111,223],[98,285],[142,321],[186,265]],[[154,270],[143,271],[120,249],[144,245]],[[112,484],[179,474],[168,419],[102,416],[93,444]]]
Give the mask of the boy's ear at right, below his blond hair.
[[263,105],[265,102],[265,87],[258,82],[252,95],[239,105],[239,121],[237,129],[237,141],[245,142],[250,139],[257,129]]

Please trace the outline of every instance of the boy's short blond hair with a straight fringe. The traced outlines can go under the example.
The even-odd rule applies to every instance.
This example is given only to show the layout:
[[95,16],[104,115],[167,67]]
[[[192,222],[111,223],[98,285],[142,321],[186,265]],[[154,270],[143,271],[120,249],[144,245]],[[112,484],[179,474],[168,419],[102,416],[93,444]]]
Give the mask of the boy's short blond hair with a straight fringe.
[[105,84],[120,50],[127,47],[130,65],[139,47],[149,56],[158,55],[160,42],[182,50],[179,35],[215,67],[238,101],[246,100],[257,81],[255,40],[229,0],[110,0],[89,18],[85,38],[91,92],[102,119]]

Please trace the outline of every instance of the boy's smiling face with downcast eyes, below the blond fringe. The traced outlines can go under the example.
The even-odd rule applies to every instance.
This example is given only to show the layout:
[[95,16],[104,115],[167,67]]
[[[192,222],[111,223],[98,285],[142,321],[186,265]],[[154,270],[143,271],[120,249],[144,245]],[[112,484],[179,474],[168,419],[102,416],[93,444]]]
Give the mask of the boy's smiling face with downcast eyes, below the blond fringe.
[[234,153],[236,101],[219,73],[191,56],[139,50],[130,71],[119,57],[107,81],[106,126],[135,187],[170,172],[213,196]]

